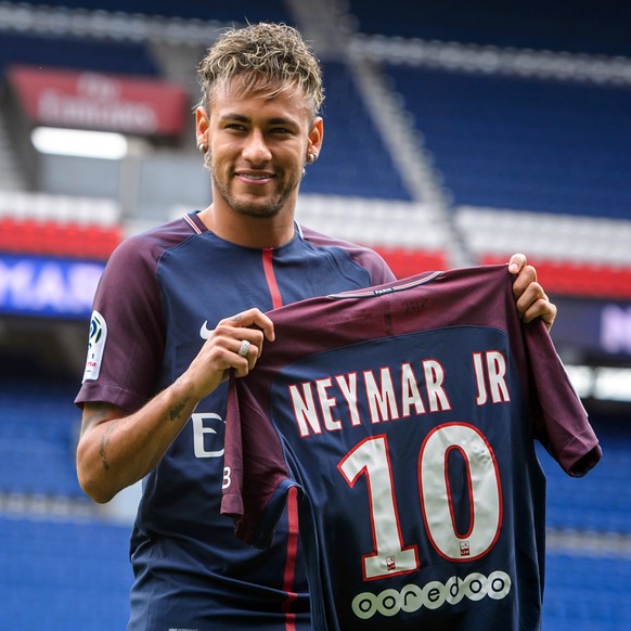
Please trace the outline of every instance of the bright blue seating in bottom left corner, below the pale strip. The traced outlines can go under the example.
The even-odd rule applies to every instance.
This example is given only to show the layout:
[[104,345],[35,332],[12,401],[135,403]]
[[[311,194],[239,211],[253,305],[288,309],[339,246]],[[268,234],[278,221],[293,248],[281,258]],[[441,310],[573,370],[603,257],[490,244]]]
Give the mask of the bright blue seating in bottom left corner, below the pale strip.
[[0,515],[2,622],[22,629],[124,629],[129,528],[94,519]]

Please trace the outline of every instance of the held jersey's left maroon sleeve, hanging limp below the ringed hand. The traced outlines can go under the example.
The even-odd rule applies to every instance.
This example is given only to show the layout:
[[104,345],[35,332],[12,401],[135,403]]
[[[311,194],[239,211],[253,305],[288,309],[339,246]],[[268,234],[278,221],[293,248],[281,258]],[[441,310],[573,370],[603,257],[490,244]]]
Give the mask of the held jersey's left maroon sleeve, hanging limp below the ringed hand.
[[269,548],[287,492],[298,485],[288,476],[280,438],[260,402],[236,381],[231,377],[229,386],[221,514],[232,517],[239,539]]

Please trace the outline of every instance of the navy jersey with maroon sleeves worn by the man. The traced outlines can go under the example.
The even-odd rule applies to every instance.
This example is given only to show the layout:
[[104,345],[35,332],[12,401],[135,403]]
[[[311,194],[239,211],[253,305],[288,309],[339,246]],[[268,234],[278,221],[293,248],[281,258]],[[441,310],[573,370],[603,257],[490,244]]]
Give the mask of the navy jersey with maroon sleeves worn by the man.
[[[219,320],[392,279],[372,250],[306,229],[261,250],[219,239],[190,214],[113,254],[94,298],[76,402],[133,412],[186,370]],[[224,384],[199,402],[143,480],[130,629],[309,627],[294,513],[283,514],[262,552],[236,540],[220,514],[227,394]]]

